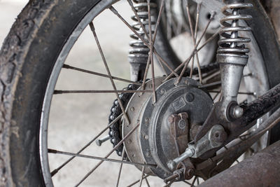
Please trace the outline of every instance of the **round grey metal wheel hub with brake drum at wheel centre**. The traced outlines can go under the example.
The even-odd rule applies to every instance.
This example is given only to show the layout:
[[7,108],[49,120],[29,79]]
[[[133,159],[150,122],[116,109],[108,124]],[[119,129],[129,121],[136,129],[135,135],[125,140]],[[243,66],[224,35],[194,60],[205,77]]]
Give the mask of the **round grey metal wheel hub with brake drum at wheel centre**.
[[[139,128],[124,142],[127,156],[132,162],[158,165],[145,168],[144,172],[165,179],[172,174],[167,162],[186,150],[206,120],[213,100],[193,79],[182,78],[178,85],[174,85],[176,78],[165,83],[162,80],[155,78],[155,104],[151,92],[132,96],[127,105],[131,123],[123,121],[123,137],[139,123]],[[146,86],[151,85],[149,81]]]

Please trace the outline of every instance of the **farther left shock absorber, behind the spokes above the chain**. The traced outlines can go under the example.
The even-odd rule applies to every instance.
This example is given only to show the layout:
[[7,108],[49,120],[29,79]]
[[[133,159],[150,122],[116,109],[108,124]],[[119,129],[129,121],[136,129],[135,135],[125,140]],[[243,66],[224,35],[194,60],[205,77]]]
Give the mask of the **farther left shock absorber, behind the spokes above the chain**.
[[[134,6],[134,9],[137,11],[137,15],[139,16],[142,25],[144,25],[147,34],[149,34],[148,2],[147,0],[133,0],[133,2],[134,4],[132,4],[132,1],[130,1],[130,5]],[[154,28],[155,18],[153,16],[153,13],[155,11],[155,8],[157,8],[157,4],[151,3],[150,6],[151,6],[151,25],[152,25],[152,34],[153,34],[155,29]],[[144,32],[144,29],[141,27],[141,23],[137,19],[137,16],[133,15],[132,20],[134,21],[132,27],[139,33],[140,36],[148,40]],[[143,43],[143,41],[139,39],[139,37],[136,34],[132,33],[130,34],[130,37],[133,39],[133,41],[130,42],[131,48],[128,55],[128,60],[131,65],[131,79],[132,81],[141,81],[144,78],[144,72],[148,61],[148,53],[150,50]]]

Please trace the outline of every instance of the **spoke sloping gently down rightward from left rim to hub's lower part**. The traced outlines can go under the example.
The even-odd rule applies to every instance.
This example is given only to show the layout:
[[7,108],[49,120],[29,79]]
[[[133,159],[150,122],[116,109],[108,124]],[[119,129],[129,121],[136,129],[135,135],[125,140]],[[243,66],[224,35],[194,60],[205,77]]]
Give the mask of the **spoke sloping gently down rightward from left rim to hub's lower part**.
[[76,153],[70,153],[66,151],[59,151],[55,149],[48,148],[48,153],[52,154],[60,154],[60,155],[71,155],[79,158],[89,158],[93,160],[102,160],[102,161],[107,161],[107,162],[117,162],[117,163],[122,163],[122,164],[127,164],[127,165],[139,165],[141,167],[157,167],[156,165],[149,165],[149,164],[141,164],[137,162],[129,162],[129,161],[124,161],[124,160],[116,160],[116,159],[111,159],[111,158],[102,158],[98,156],[92,156],[92,155],[83,155],[83,154],[76,154]]

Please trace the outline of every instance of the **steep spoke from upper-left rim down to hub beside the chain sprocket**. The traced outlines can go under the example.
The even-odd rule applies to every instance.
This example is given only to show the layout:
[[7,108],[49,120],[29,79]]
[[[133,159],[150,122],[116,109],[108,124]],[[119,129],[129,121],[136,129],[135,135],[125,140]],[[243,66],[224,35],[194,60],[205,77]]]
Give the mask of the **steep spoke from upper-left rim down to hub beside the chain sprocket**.
[[[98,40],[98,38],[97,38],[97,34],[96,34],[96,32],[95,32],[95,28],[94,28],[93,22],[90,22],[90,29],[92,30],[92,34],[93,34],[94,39],[95,39],[95,41],[96,41],[96,43],[97,43],[97,47],[98,47],[98,49],[99,49],[99,53],[100,53],[100,55],[102,56],[102,60],[103,60],[103,62],[104,62],[104,66],[105,66],[105,68],[106,68],[107,74],[110,76],[110,81],[111,81],[111,84],[112,84],[112,86],[113,86],[113,90],[116,91],[117,88],[116,88],[116,85],[115,85],[115,83],[114,83],[114,81],[113,81],[113,78],[112,78],[112,75],[111,75],[111,71],[110,71],[110,69],[109,69],[109,67],[108,67],[108,64],[107,64],[106,58],[105,58],[105,56],[104,56],[104,53],[103,53],[103,51],[102,51],[102,47],[101,47],[101,45],[100,45],[100,43],[99,43],[99,40]],[[125,113],[125,107],[123,106],[123,102],[121,102],[121,100],[120,100],[120,96],[118,95],[118,92],[116,92],[116,97],[117,97],[117,99],[118,99],[118,103],[120,104],[120,109],[122,109],[123,116],[125,116],[125,119],[127,120],[127,123],[130,123],[130,119],[128,118],[127,113]]]

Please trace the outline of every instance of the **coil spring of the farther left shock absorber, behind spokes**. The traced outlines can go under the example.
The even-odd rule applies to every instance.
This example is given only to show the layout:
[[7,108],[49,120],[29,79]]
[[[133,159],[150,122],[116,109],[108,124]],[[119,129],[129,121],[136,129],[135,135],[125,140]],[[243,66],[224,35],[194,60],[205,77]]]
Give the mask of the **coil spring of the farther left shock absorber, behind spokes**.
[[[149,34],[148,29],[148,2],[147,0],[133,0],[134,8],[137,11],[137,14],[139,15],[139,18],[141,19],[142,24],[144,25],[146,31]],[[157,4],[151,3],[151,12],[152,8],[157,8]],[[147,39],[145,36],[144,30],[141,28],[141,24],[137,19],[136,15],[132,16],[132,20],[134,23],[132,24],[132,27],[138,32],[140,36],[142,36],[144,39]],[[155,21],[151,19],[151,25],[152,25],[152,34],[154,32],[153,26],[155,25]],[[131,64],[146,64],[148,60],[148,53],[149,48],[139,39],[139,37],[132,33],[130,34],[130,37],[133,39],[133,41],[130,42],[130,46],[132,47],[129,51],[129,59]],[[146,65],[145,65],[146,66]]]

